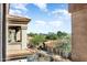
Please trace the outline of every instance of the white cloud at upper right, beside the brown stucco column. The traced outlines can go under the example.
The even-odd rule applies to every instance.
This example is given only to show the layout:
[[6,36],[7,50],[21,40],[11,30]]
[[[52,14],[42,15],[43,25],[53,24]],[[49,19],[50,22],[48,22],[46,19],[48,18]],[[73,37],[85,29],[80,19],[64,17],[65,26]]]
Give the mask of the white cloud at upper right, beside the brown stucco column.
[[55,9],[51,12],[48,12],[48,15],[53,15],[54,19],[59,20],[59,21],[67,21],[70,19],[70,13],[68,10],[65,9]]

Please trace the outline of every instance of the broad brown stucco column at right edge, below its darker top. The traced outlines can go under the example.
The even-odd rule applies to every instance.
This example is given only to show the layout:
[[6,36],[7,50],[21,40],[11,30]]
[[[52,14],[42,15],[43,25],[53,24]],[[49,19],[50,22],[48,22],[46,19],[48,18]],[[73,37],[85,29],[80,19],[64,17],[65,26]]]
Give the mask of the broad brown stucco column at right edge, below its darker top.
[[72,13],[72,59],[87,61],[87,9]]

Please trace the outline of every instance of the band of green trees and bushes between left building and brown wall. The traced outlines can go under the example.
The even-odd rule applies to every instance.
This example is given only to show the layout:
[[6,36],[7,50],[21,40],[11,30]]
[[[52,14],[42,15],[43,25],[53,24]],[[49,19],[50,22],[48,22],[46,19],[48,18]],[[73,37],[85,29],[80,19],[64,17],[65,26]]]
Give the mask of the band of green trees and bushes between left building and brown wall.
[[[30,33],[30,36],[33,36],[31,40],[31,43],[33,45],[40,45],[44,41],[47,40],[57,40],[57,44],[55,45],[56,48],[58,48],[62,52],[70,52],[70,35],[58,31],[57,33],[50,32],[48,34],[36,34],[36,33]],[[59,42],[61,41],[61,42]]]

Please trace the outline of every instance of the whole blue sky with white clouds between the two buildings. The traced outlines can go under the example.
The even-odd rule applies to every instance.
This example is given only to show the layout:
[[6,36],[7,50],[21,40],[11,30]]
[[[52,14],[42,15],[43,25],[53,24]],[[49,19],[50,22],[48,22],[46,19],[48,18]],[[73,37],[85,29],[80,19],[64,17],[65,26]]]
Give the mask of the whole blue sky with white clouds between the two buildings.
[[28,33],[72,33],[67,3],[11,3],[10,14],[31,19],[28,23]]

